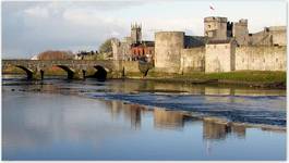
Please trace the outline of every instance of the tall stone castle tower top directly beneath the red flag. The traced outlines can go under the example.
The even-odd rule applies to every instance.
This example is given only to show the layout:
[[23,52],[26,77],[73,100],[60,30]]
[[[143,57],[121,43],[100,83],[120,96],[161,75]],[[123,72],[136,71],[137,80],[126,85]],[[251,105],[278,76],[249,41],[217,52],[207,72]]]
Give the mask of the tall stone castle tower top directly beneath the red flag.
[[204,36],[215,40],[227,39],[227,17],[205,17]]

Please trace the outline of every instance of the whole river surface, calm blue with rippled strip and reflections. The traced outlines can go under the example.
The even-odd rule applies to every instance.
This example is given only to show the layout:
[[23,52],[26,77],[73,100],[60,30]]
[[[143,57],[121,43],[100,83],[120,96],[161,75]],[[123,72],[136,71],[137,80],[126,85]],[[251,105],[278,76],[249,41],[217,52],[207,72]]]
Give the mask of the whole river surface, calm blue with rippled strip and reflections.
[[285,90],[2,77],[2,160],[286,160]]

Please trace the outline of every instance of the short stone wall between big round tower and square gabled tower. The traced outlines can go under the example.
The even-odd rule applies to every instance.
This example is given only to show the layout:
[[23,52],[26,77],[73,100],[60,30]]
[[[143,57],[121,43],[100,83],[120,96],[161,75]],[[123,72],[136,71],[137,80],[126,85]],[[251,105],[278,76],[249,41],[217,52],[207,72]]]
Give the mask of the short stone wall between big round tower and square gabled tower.
[[182,73],[205,71],[205,47],[182,49],[181,70]]

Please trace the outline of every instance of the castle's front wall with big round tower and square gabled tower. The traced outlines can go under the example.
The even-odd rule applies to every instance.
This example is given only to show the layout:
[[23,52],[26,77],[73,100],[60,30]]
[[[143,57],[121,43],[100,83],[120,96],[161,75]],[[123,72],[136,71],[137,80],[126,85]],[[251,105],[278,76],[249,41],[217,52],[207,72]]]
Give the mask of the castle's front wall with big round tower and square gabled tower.
[[178,32],[156,35],[157,72],[286,71],[286,46],[237,47],[231,40],[184,49],[183,38]]

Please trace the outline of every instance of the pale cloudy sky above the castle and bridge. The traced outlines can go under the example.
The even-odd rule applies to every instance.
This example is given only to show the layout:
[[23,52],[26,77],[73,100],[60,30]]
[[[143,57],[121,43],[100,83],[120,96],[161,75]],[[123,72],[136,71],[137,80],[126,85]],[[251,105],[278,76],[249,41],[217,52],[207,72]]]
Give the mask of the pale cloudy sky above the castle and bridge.
[[[209,7],[215,10],[212,10]],[[287,25],[284,0],[96,0],[2,1],[1,54],[28,59],[46,50],[97,50],[110,37],[130,35],[132,23],[142,24],[143,38],[155,32],[182,30],[203,36],[206,16],[230,22],[248,18],[249,32]]]

